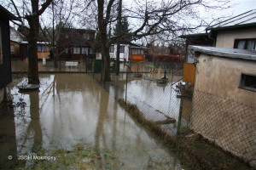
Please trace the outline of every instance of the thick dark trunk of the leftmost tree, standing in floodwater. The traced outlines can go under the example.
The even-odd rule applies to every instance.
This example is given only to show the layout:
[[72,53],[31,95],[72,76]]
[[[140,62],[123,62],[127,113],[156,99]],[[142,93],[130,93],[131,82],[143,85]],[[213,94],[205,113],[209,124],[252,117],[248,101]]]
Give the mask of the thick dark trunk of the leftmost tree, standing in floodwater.
[[31,16],[27,18],[30,26],[27,35],[28,41],[28,83],[39,84],[38,77],[38,33],[39,33],[39,19],[38,17]]

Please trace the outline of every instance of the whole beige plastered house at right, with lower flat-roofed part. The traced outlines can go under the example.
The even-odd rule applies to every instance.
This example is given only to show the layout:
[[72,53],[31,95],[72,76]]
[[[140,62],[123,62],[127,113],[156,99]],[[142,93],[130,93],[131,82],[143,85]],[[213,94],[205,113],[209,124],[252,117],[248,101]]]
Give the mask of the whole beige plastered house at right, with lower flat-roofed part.
[[[214,47],[189,46],[190,127],[256,168],[256,10],[207,28]],[[192,67],[191,67],[192,68]],[[193,82],[193,83],[194,83]]]

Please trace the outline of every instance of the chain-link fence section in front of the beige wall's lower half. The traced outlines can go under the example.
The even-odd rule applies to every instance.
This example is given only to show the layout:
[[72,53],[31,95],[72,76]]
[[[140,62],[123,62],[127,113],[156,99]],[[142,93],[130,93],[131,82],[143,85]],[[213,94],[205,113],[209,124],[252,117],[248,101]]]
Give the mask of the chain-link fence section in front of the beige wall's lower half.
[[232,99],[194,92],[191,127],[246,161],[256,159],[256,108]]

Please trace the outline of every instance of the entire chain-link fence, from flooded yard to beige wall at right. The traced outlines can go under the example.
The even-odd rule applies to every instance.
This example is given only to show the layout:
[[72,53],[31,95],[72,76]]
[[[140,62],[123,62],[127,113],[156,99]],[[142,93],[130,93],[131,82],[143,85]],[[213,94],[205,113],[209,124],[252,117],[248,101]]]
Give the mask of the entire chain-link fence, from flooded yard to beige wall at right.
[[[256,108],[194,91],[193,85],[183,86],[182,67],[177,68],[175,63],[138,65],[138,71],[123,72],[119,76],[112,73],[112,82],[102,82],[102,86],[113,91],[116,99],[136,105],[146,120],[174,138],[183,127],[188,127],[245,161],[255,160]],[[157,80],[164,77],[165,71],[168,81],[160,84]],[[137,73],[142,77],[135,76]],[[101,82],[100,73],[91,75]]]

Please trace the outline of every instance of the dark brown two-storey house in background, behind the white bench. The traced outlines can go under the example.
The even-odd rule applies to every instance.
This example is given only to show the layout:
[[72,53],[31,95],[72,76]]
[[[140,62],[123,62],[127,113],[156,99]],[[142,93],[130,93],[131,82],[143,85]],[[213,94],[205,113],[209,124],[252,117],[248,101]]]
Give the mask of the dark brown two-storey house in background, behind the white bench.
[[94,30],[62,28],[59,35],[59,59],[92,59],[92,46],[95,40]]

